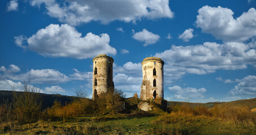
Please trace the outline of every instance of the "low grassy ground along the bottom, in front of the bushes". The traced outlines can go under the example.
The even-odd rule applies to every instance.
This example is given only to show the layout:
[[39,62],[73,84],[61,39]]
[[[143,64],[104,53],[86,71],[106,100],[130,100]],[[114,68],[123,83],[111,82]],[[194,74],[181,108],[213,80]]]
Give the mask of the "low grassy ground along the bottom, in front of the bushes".
[[256,134],[256,124],[191,114],[142,118],[123,114],[39,120],[31,124],[2,123],[1,134]]

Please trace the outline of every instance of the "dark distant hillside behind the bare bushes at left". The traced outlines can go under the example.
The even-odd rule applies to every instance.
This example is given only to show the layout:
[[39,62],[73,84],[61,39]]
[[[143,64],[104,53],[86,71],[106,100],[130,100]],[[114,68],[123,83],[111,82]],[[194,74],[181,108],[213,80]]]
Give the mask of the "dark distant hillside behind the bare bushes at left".
[[[17,92],[22,93],[22,92]],[[0,90],[0,105],[8,100],[9,102],[12,101],[13,92],[12,91],[1,91]],[[42,99],[42,109],[46,109],[47,107],[51,107],[54,104],[55,100],[60,101],[60,104],[65,105],[65,103],[69,103],[75,99],[73,96],[63,96],[63,95],[47,95],[40,93],[40,97]]]

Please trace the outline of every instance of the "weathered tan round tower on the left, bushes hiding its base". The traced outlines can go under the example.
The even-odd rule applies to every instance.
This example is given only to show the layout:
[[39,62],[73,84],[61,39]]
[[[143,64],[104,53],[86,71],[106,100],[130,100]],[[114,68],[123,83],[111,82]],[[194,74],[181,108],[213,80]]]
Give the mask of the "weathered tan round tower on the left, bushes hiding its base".
[[93,100],[102,93],[114,91],[114,59],[107,55],[98,55],[93,59]]

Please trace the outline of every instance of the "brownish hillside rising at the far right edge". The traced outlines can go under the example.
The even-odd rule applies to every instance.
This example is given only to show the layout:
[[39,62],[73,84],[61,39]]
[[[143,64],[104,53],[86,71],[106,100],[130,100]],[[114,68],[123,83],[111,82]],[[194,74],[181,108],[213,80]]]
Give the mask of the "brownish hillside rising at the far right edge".
[[222,104],[219,104],[218,107],[220,108],[227,108],[227,107],[241,107],[241,106],[247,106],[250,110],[256,108],[256,98],[251,98],[248,100],[236,100],[231,102],[224,102]]

